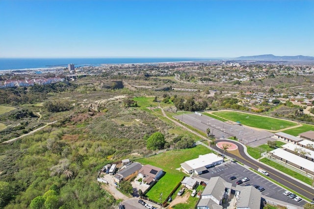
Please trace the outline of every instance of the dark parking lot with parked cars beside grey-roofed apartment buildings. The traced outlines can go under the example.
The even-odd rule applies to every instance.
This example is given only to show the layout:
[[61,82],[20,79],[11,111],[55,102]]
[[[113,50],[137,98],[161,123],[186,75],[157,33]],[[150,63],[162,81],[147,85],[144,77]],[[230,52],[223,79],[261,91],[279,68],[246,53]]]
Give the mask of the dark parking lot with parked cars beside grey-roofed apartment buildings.
[[[255,172],[246,169],[245,167],[235,162],[230,162],[224,165],[216,166],[214,168],[209,168],[208,171],[209,171],[208,173],[202,174],[200,175],[200,177],[210,179],[211,177],[220,176],[227,182],[232,183],[233,189],[235,189],[236,181],[247,177],[250,179],[250,181],[242,183],[241,186],[246,185],[253,186],[257,184],[265,188],[265,190],[262,191],[262,195],[266,197],[271,197],[273,199],[284,201],[286,203],[296,206],[303,206],[304,204],[306,204],[306,202],[303,200],[301,200],[300,202],[296,202],[293,199],[290,199],[288,196],[283,195],[286,189],[277,186],[276,184],[268,181],[267,179],[264,179],[259,174],[256,174]],[[229,180],[229,178],[232,176],[236,177],[236,179],[233,181]]]

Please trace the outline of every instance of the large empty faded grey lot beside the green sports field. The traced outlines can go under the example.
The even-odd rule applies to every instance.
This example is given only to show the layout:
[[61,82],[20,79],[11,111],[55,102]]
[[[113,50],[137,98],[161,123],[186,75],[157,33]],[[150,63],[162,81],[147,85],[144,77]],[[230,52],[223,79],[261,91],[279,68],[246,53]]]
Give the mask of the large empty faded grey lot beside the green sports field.
[[175,116],[175,118],[204,132],[209,128],[211,133],[215,135],[215,138],[229,138],[231,136],[236,136],[241,143],[248,144],[252,147],[265,144],[267,143],[267,140],[275,140],[274,138],[271,138],[271,136],[274,135],[271,132],[256,130],[238,124],[231,125],[203,114],[183,114]]

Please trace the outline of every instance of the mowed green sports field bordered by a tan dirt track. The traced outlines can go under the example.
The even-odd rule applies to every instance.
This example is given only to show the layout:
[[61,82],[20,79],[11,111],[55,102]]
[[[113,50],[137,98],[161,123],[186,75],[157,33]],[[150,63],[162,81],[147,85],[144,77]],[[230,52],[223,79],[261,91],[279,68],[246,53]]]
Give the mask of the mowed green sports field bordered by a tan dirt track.
[[259,129],[265,129],[269,131],[276,131],[285,129],[288,127],[296,126],[297,124],[291,121],[280,120],[277,118],[264,117],[260,115],[248,114],[235,111],[217,111],[212,114],[225,118],[231,121],[239,121],[241,124],[255,127]]

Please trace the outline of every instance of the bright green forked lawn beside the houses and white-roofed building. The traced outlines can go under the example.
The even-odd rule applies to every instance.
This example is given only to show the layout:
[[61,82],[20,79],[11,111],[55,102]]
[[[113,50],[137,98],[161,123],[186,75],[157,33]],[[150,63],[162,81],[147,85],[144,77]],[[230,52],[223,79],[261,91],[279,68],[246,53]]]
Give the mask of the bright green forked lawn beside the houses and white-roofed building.
[[142,164],[150,164],[162,168],[166,174],[153,186],[147,193],[147,196],[159,202],[160,193],[162,193],[162,201],[164,201],[174,187],[180,183],[183,176],[188,176],[183,172],[176,170],[180,168],[180,164],[186,160],[197,158],[199,155],[205,155],[211,151],[201,145],[190,149],[171,150],[156,156],[138,159],[136,161]]

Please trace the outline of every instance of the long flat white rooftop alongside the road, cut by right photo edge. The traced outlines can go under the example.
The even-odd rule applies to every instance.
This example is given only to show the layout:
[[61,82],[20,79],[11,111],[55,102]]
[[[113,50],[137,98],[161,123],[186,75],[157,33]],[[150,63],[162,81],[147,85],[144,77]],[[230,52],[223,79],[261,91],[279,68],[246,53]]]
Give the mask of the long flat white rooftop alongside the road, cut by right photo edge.
[[281,148],[278,148],[276,150],[270,151],[269,153],[273,153],[273,155],[281,157],[285,160],[288,160],[289,162],[292,162],[296,165],[299,165],[303,168],[306,168],[310,171],[314,170],[314,162],[304,159],[303,157],[299,157],[297,155],[294,155],[292,153],[289,153],[288,151],[285,151]]

